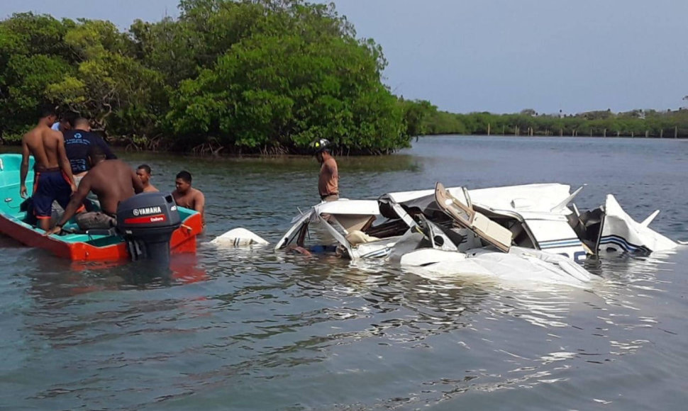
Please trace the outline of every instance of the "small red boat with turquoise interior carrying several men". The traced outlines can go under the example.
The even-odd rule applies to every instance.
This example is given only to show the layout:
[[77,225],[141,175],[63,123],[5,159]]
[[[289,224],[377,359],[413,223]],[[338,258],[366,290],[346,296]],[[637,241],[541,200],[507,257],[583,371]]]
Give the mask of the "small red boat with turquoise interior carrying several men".
[[[0,233],[7,235],[29,247],[46,249],[58,257],[73,261],[118,260],[130,258],[125,238],[114,230],[79,231],[74,221],[64,227],[61,235],[46,237],[45,232],[28,223],[25,201],[19,195],[19,173],[21,154],[0,154]],[[33,157],[29,168],[33,169]],[[26,187],[33,187],[33,173],[26,177]],[[172,232],[170,249],[172,252],[195,252],[196,236],[203,230],[201,215],[195,210],[176,207],[181,225]],[[28,211],[30,213],[30,210]]]

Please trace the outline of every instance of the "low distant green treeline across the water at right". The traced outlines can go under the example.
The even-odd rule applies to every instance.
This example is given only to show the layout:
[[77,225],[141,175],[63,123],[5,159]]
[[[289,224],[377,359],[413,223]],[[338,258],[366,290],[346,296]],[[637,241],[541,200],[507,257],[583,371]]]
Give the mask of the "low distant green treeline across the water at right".
[[688,110],[633,110],[626,113],[589,111],[570,116],[518,114],[454,114],[425,102],[421,134],[542,135],[602,137],[688,137]]

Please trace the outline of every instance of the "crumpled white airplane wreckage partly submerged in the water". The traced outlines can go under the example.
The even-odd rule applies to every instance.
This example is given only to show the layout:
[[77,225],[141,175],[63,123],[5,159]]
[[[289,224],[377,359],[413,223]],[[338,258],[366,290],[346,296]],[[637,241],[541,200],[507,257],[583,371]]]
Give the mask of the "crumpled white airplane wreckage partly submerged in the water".
[[[528,184],[468,191],[462,187],[387,193],[377,201],[314,205],[292,220],[275,250],[386,259],[441,274],[479,274],[555,283],[586,283],[577,262],[600,250],[665,251],[676,242],[636,223],[607,196],[601,208],[579,213],[564,184]],[[311,229],[321,227],[309,244]],[[238,228],[213,240],[233,246],[267,244]]]

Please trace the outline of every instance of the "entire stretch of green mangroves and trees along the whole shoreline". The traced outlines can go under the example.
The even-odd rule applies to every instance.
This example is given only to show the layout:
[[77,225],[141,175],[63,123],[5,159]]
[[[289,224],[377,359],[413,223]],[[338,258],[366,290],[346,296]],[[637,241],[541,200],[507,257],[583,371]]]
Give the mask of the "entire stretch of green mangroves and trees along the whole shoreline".
[[382,82],[382,47],[333,4],[181,0],[179,18],[0,21],[0,144],[54,104],[131,151],[199,155],[389,154],[417,135],[688,137],[688,110],[573,116],[438,111]]

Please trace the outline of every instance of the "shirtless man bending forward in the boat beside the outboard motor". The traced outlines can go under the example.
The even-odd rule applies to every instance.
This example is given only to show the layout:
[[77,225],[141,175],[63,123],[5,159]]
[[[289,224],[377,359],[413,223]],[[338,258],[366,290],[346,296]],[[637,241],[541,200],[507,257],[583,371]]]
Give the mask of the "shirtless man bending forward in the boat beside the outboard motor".
[[114,227],[117,225],[118,203],[143,191],[143,184],[133,169],[122,160],[106,159],[106,154],[99,145],[92,145],[89,148],[88,158],[90,171],[79,183],[77,192],[65,208],[65,214],[45,235],[60,232],[62,226],[77,213],[77,209],[86,199],[89,191],[93,191],[98,196],[101,210],[77,214],[76,220],[81,230]]

